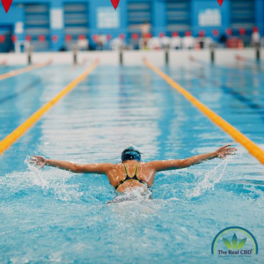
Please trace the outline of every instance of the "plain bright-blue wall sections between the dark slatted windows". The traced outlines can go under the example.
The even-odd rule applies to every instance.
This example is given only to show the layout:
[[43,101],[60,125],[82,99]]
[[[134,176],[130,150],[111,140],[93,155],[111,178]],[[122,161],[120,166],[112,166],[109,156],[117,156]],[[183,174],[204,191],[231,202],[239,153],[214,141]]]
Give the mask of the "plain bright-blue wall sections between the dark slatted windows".
[[[25,22],[24,4],[28,3],[47,3],[49,8],[60,8],[64,10],[64,3],[82,3],[88,4],[88,38],[92,42],[91,36],[93,34],[111,34],[112,37],[117,37],[120,33],[124,33],[127,38],[130,36],[128,30],[128,2],[142,2],[142,0],[120,0],[117,12],[120,14],[120,25],[114,29],[99,29],[97,28],[96,10],[98,6],[111,7],[110,0],[13,0],[13,4],[7,14],[5,14],[3,8],[0,8],[0,30],[1,26],[12,26],[13,31],[16,22]],[[152,33],[158,35],[160,32],[168,32],[166,30],[166,1],[165,0],[144,0],[151,2],[151,16],[152,16]],[[179,0],[180,1],[180,0]],[[224,0],[222,7],[219,6],[217,0],[190,0],[190,12],[191,21],[190,28],[194,35],[198,34],[199,30],[204,30],[206,35],[212,36],[212,29],[219,29],[220,33],[224,32],[226,28],[230,27],[230,1]],[[249,0],[252,1],[252,0]],[[198,24],[198,14],[205,9],[218,9],[221,14],[220,26],[203,26]],[[264,35],[264,0],[255,0],[255,25],[259,27],[260,32]],[[0,31],[1,32],[1,31]],[[13,33],[14,34],[14,33]],[[49,49],[58,50],[65,44],[65,32],[64,28],[53,29],[49,31]],[[50,41],[52,35],[58,35],[59,40],[56,43]],[[25,34],[17,34],[20,40],[25,38]]]

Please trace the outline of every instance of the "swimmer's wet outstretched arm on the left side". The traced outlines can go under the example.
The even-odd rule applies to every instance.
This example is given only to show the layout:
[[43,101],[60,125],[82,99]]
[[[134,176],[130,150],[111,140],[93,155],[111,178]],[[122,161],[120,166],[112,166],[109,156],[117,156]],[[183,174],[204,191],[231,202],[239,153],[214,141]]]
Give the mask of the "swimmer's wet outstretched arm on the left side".
[[63,160],[46,159],[43,156],[32,156],[30,163],[38,166],[39,169],[45,165],[56,167],[62,170],[74,173],[96,173],[106,174],[111,169],[113,164],[110,163],[96,163],[96,164],[74,164]]

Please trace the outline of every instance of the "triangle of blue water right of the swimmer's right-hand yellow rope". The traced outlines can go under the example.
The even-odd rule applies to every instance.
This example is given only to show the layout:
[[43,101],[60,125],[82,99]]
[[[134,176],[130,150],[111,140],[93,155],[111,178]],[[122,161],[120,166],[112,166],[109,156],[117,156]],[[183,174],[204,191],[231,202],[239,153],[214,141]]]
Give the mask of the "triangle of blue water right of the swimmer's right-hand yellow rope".
[[168,73],[205,105],[263,146],[264,94],[261,90],[264,81],[253,72],[251,77],[242,70],[239,72],[193,64],[184,74],[177,69]]

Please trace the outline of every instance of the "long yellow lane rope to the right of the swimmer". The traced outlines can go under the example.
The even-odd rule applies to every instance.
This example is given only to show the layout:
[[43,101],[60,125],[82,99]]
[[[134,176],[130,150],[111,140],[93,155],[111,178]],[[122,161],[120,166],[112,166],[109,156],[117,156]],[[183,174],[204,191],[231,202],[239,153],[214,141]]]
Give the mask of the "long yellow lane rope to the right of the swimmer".
[[248,137],[246,137],[242,132],[234,128],[231,124],[221,118],[213,110],[201,103],[196,97],[194,97],[190,92],[185,90],[183,87],[178,85],[171,77],[166,73],[158,69],[156,66],[151,64],[149,61],[144,60],[145,64],[150,67],[155,73],[157,73],[161,78],[163,78],[169,85],[175,88],[179,93],[181,93],[188,101],[190,101],[194,106],[196,106],[202,113],[204,113],[214,124],[218,125],[223,131],[227,132],[232,136],[237,142],[239,142],[248,152],[257,158],[262,164],[264,164],[264,151],[258,147],[254,142],[252,142]]

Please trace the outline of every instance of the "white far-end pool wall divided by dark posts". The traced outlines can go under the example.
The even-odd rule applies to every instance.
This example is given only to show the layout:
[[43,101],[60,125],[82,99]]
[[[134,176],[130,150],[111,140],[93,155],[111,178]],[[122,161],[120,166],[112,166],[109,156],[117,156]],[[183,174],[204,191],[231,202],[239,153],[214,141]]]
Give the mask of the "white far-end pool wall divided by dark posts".
[[[261,60],[264,60],[264,48],[260,52]],[[216,64],[231,64],[236,62],[236,55],[244,56],[248,59],[256,59],[255,48],[245,49],[215,49],[215,63]],[[25,65],[28,61],[26,53],[1,53],[0,63],[5,61],[7,65]],[[170,50],[169,64],[183,65],[189,63],[189,57],[194,56],[196,59],[210,62],[210,49],[203,50]],[[138,51],[125,50],[123,51],[123,63],[125,66],[143,65],[142,58],[147,58],[149,61],[157,66],[165,65],[165,51]],[[119,65],[120,53],[119,51],[81,51],[77,53],[78,63],[83,64],[92,62],[99,58],[101,65]],[[43,63],[51,59],[54,64],[72,64],[72,52],[34,52],[32,53],[32,63]]]

